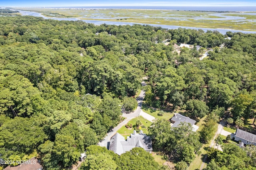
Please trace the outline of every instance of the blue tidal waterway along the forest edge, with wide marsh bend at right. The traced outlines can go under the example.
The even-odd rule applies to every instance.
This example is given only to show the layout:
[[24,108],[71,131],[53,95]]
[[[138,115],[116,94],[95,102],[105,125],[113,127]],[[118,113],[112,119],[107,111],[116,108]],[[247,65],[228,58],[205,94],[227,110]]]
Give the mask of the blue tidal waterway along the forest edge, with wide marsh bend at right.
[[[30,11],[22,11],[22,10],[18,10],[23,16],[35,16],[35,17],[42,17],[44,19],[52,19],[52,20],[66,20],[66,21],[78,21],[80,19],[78,18],[55,18],[55,17],[46,17],[43,16],[42,14],[38,13],[38,12],[30,12]],[[230,13],[229,13],[230,14]],[[212,14],[214,16],[218,16],[218,17],[224,17],[223,18],[207,18],[208,20],[241,20],[244,19],[243,17],[237,17],[237,16],[222,16],[222,14]],[[195,19],[200,19],[200,18],[195,18]],[[205,19],[205,18],[201,18],[201,19]],[[133,23],[133,22],[118,22],[118,21],[99,21],[99,20],[81,20],[87,23],[94,23],[95,25],[101,25],[103,23],[106,23],[108,25],[134,25],[134,24],[141,24],[141,25],[145,25],[145,23]],[[201,28],[201,27],[183,27],[183,26],[177,26],[177,25],[159,25],[159,24],[147,24],[147,25],[151,25],[151,26],[155,26],[155,27],[163,27],[163,28],[167,28],[167,29],[178,29],[178,28],[186,28],[186,29],[202,29],[204,31],[210,30],[210,31],[214,31],[217,30],[222,34],[226,34],[227,31],[231,31],[231,32],[242,32],[242,33],[256,33],[256,31],[240,31],[240,30],[234,30],[234,29],[212,29],[212,28]]]

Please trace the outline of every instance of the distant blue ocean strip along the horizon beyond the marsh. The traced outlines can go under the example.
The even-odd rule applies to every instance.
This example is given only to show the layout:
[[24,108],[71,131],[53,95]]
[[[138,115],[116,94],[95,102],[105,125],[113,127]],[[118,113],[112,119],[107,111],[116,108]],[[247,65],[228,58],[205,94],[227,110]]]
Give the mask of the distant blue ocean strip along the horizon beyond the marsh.
[[108,9],[146,9],[146,10],[187,10],[187,11],[256,11],[256,6],[73,6],[52,8],[108,8]]

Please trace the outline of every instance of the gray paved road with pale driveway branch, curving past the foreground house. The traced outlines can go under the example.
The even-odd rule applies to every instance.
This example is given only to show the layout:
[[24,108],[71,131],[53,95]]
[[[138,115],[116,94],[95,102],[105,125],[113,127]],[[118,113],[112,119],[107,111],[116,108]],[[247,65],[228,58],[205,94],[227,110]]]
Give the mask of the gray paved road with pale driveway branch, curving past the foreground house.
[[[145,86],[146,83],[143,81],[142,82],[142,86]],[[126,123],[128,123],[131,119],[133,119],[134,117],[138,117],[139,115],[142,115],[142,117],[144,117],[145,119],[149,120],[152,122],[153,119],[155,119],[155,117],[153,117],[152,115],[149,115],[148,113],[145,113],[144,111],[142,111],[142,101],[144,99],[144,95],[145,92],[143,90],[141,90],[140,95],[138,96],[138,98],[136,98],[137,102],[138,102],[138,107],[137,109],[132,112],[132,113],[124,113],[122,114],[123,117],[126,117],[126,119],[124,121],[122,121],[121,123],[119,123],[116,127],[114,127],[111,131],[108,132],[108,134],[106,135],[106,137],[100,141],[100,143],[98,143],[98,145],[100,145],[101,147],[106,147],[108,148],[108,142],[110,141],[110,138],[124,125],[126,125]]]

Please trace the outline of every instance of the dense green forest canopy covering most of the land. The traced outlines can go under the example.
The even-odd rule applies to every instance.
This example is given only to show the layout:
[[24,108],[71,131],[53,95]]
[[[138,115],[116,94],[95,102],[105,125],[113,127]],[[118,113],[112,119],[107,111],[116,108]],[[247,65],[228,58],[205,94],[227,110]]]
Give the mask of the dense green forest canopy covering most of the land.
[[[169,45],[162,43],[166,39]],[[234,120],[246,121],[256,115],[255,42],[255,34],[1,17],[0,157],[23,160],[38,153],[45,169],[70,167],[120,122],[121,106],[141,88],[143,76],[148,106],[186,109],[193,118],[216,110],[221,117],[220,108],[231,109]],[[202,51],[184,48],[178,55],[174,43],[213,51],[200,61]],[[158,142],[154,126],[150,134]],[[188,146],[162,142],[155,148],[178,150],[180,160],[190,163],[200,145],[197,133],[190,137]],[[171,131],[166,141],[179,138]],[[113,156],[104,152],[89,156],[83,168]],[[136,153],[152,160],[141,150],[130,154]],[[106,163],[127,168],[127,156]]]

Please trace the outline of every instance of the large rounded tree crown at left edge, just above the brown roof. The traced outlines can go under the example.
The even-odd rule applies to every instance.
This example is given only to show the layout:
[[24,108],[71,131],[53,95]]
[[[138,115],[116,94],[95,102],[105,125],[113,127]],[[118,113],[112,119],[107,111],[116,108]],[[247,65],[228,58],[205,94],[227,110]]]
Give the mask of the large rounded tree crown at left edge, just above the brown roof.
[[42,128],[32,118],[15,117],[0,127],[0,143],[3,159],[12,154],[30,154],[47,139]]

